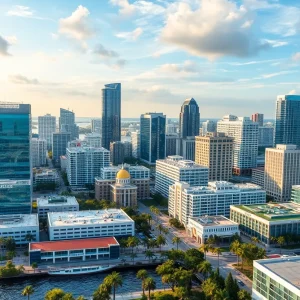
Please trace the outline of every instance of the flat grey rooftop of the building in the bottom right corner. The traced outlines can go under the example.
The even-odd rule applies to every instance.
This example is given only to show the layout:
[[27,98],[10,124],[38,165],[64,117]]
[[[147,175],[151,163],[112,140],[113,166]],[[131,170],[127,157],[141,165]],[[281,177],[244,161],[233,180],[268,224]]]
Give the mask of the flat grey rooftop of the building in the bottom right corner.
[[256,260],[255,264],[261,265],[272,273],[276,274],[284,281],[297,288],[300,293],[300,257],[273,258]]

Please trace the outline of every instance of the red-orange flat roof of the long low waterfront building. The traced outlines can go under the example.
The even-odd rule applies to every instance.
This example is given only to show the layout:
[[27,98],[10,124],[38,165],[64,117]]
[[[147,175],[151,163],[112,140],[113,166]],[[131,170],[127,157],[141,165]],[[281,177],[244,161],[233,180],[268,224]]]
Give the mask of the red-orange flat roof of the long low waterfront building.
[[109,245],[119,245],[119,243],[114,237],[103,237],[103,238],[93,238],[93,239],[30,243],[29,249],[31,251],[41,250],[42,252],[48,252],[48,251],[66,251],[66,250],[104,248],[104,247],[108,247]]

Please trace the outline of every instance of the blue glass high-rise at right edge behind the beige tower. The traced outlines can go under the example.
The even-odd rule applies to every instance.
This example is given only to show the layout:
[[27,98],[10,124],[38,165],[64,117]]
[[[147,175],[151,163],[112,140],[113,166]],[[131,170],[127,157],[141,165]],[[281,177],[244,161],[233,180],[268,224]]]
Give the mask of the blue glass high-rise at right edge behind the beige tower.
[[274,144],[300,147],[300,95],[277,97]]

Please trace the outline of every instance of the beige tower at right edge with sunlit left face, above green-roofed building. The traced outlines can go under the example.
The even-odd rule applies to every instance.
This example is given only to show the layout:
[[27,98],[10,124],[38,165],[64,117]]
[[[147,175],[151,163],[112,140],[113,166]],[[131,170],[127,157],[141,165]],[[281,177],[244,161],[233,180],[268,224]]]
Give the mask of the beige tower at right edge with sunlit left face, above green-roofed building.
[[292,185],[300,184],[300,150],[296,145],[267,148],[264,188],[276,201],[289,201]]

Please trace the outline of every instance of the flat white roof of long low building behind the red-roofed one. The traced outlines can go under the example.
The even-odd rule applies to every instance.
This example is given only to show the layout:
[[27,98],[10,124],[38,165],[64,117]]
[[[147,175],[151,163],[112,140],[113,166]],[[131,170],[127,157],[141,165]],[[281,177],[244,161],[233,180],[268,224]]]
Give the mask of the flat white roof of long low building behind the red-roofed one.
[[48,221],[51,227],[133,222],[121,209],[51,212]]

